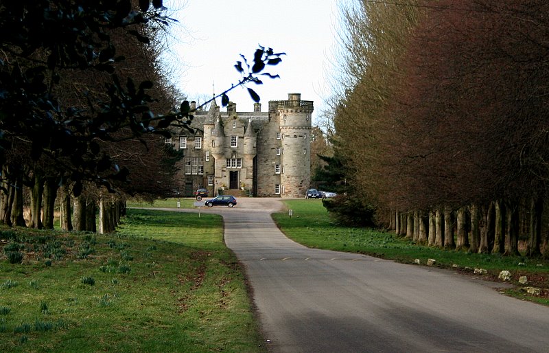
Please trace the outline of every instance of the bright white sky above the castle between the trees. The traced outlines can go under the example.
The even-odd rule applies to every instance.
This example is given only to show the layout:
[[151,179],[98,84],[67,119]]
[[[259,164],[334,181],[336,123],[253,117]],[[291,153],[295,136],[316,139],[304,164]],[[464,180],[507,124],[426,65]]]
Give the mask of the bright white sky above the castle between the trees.
[[[288,93],[301,93],[302,100],[313,100],[313,124],[329,97],[329,71],[333,67],[339,0],[165,0],[174,10],[171,53],[167,56],[174,70],[174,84],[192,99],[211,98],[240,80],[233,67],[240,54],[248,62],[258,45],[285,52],[279,65],[264,76],[264,84],[251,84],[261,97],[261,111],[269,100],[286,100]],[[229,93],[238,111],[253,111],[253,100],[246,89]],[[218,104],[221,104],[218,100]]]

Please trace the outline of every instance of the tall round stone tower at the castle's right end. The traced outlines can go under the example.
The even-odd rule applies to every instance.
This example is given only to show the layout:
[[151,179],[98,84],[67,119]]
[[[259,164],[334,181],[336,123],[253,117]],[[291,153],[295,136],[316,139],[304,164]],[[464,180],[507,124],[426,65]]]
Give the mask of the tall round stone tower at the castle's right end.
[[301,94],[289,93],[279,101],[277,115],[281,132],[281,174],[283,197],[301,197],[311,181],[312,101],[302,101]]

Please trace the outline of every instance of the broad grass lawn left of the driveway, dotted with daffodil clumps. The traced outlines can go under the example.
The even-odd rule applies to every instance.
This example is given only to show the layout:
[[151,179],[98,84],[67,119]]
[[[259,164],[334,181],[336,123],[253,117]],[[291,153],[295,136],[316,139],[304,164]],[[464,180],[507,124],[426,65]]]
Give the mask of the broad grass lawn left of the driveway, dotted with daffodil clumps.
[[0,246],[2,352],[264,351],[219,216],[130,209],[110,236],[3,228]]

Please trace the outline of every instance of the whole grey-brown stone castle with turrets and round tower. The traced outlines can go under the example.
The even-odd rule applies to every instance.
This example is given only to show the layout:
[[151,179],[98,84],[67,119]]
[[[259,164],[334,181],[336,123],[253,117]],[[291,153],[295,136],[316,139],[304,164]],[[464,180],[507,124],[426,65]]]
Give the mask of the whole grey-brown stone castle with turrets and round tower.
[[[191,109],[196,104],[191,102]],[[209,195],[240,190],[248,196],[302,197],[310,182],[310,134],[313,102],[290,93],[288,100],[270,101],[268,112],[226,112],[211,103],[197,111],[191,127],[181,131],[174,148],[183,150],[177,178],[180,194],[198,188]],[[229,191],[228,191],[229,190]]]

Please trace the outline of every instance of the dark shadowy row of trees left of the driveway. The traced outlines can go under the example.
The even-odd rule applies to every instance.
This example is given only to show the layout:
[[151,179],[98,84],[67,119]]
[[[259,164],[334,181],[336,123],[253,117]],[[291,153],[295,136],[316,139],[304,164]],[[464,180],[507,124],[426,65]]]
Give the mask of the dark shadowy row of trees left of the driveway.
[[162,126],[181,97],[159,61],[163,10],[130,0],[0,5],[0,223],[53,229],[57,203],[63,229],[106,233],[126,196],[174,187],[179,156]]

